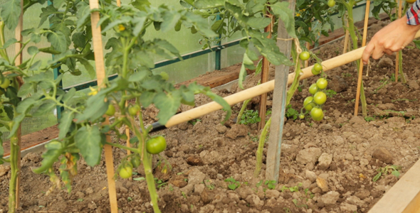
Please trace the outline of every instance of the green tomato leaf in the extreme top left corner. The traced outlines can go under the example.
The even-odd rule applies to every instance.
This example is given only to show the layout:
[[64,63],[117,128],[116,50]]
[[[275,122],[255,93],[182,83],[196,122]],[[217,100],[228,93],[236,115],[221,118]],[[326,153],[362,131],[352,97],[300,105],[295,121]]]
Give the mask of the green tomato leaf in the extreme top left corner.
[[6,23],[7,28],[12,30],[18,26],[21,16],[21,0],[8,0],[1,5],[1,19]]

